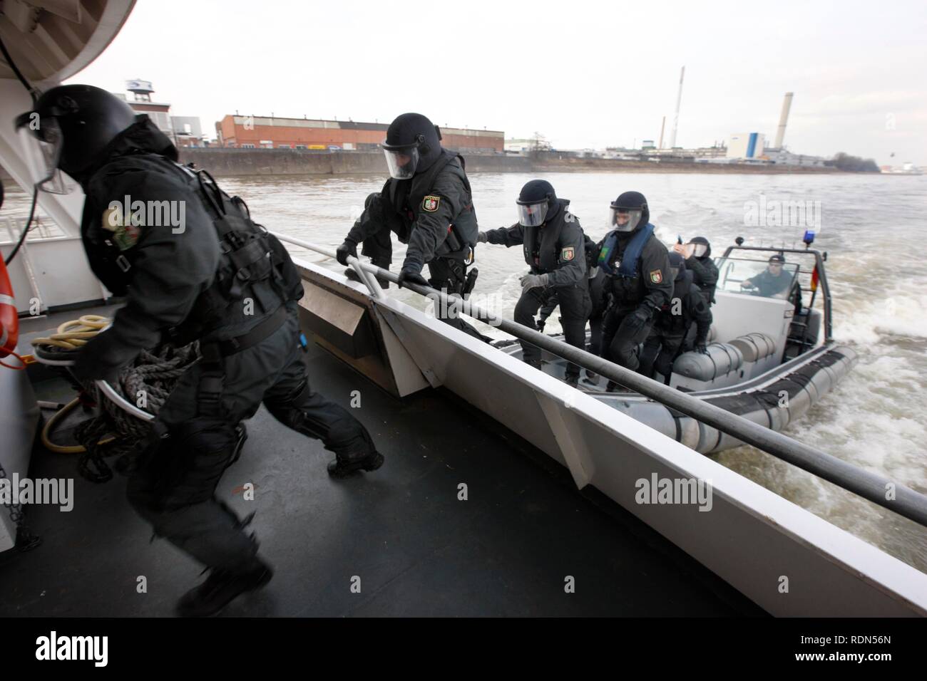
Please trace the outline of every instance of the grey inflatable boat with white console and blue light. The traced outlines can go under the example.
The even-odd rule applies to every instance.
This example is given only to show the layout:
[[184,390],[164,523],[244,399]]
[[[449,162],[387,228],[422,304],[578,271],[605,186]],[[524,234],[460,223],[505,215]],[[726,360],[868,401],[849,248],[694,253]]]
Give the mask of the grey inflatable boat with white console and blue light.
[[[826,253],[810,243],[806,248],[765,248],[743,246],[740,238],[738,242],[715,259],[719,276],[707,353],[682,352],[668,380],[660,373],[653,378],[781,431],[832,390],[856,364],[857,355],[832,339]],[[767,269],[773,255],[786,259],[778,290],[752,288],[751,278]],[[521,356],[517,342],[504,341],[499,347]],[[565,359],[542,353],[544,372],[560,378],[565,367]],[[578,387],[703,454],[743,444],[660,402],[637,393],[606,392],[605,386],[584,372]]]

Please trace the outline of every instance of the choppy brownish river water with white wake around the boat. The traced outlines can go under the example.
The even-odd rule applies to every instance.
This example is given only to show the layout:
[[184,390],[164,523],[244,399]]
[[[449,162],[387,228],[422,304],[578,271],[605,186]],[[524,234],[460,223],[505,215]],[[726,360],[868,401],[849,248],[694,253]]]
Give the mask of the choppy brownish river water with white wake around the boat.
[[[828,251],[834,335],[852,344],[859,363],[789,435],[872,472],[927,493],[927,265],[921,253],[927,176],[545,173],[593,238],[605,232],[609,202],[627,190],[647,196],[657,234],[671,243],[704,235],[715,254],[743,235],[750,245],[791,245],[803,228],[745,225],[745,205],[819,201],[816,246]],[[514,221],[514,197],[530,176],[471,176],[481,229]],[[371,176],[225,179],[268,228],[333,250],[364,197],[380,189]],[[22,210],[23,197],[15,203]],[[5,209],[6,212],[6,209]],[[24,212],[24,211],[23,211]],[[394,270],[404,247],[397,245]],[[323,261],[314,254],[295,253]],[[327,266],[340,268],[328,260]],[[521,249],[480,246],[477,291],[497,292],[511,316]],[[391,293],[421,307],[407,291]],[[555,321],[556,315],[552,317]],[[550,330],[551,327],[549,327]],[[927,572],[927,530],[754,448],[717,455],[724,465],[791,499],[902,561]]]

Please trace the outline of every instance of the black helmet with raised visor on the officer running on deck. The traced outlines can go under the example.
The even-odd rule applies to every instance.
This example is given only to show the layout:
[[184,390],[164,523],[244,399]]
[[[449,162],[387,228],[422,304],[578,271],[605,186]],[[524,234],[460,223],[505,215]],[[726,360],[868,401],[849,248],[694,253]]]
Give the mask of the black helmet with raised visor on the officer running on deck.
[[58,85],[40,96],[32,111],[21,114],[16,125],[45,145],[49,172],[57,167],[80,182],[82,171],[134,122],[132,108],[106,90]]

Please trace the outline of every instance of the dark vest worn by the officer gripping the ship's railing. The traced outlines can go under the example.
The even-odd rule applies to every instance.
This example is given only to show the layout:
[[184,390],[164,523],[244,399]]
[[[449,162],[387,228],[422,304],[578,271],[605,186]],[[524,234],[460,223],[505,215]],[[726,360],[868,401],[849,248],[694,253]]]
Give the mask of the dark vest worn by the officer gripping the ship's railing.
[[446,256],[464,251],[469,252],[470,247],[476,245],[476,235],[479,232],[479,227],[476,224],[473,191],[470,189],[470,180],[466,176],[464,157],[460,154],[451,153],[447,149],[441,149],[441,156],[425,172],[414,176],[411,180],[390,179],[387,181],[387,186],[384,187],[389,203],[396,208],[396,212],[399,213],[405,227],[405,233],[399,234],[400,241],[403,244],[409,241],[409,235],[415,221],[418,220],[418,214],[422,210],[422,202],[425,200],[425,196],[434,192],[434,184],[438,179],[438,173],[451,164],[454,158],[459,158],[461,162],[460,170],[453,170],[463,180],[466,195],[463,208],[459,214],[454,216],[454,221],[451,222],[448,238],[441,246],[438,246],[437,255]]

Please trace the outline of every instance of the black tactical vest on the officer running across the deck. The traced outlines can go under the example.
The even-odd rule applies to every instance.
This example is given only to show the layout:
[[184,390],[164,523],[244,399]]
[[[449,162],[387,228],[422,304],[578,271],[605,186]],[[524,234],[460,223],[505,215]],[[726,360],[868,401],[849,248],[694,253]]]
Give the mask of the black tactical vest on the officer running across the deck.
[[[159,157],[156,157],[159,158]],[[298,290],[300,278],[286,248],[263,225],[251,220],[248,206],[227,195],[206,170],[191,170],[167,158],[171,167],[199,197],[219,238],[221,256],[212,284],[203,291],[184,322],[162,329],[165,340],[184,346],[222,326],[251,322],[273,312]],[[121,250],[110,239],[90,240],[95,274],[116,293],[131,281],[135,247]],[[249,298],[253,307],[246,308]]]

